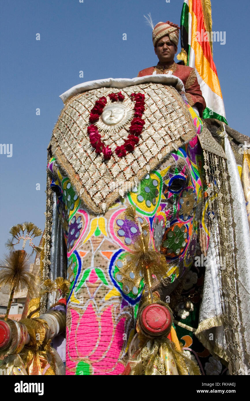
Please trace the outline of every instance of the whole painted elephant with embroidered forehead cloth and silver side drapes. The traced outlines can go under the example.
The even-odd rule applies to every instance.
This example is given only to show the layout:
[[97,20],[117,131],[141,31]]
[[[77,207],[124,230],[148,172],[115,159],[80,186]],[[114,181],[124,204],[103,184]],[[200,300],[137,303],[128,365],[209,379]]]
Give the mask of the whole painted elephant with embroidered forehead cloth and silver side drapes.
[[[249,322],[240,303],[250,282],[243,267],[250,241],[229,142],[236,140],[223,124],[201,121],[174,76],[91,81],[61,98],[65,107],[48,148],[41,260],[43,280],[64,275],[71,283],[66,374],[136,374],[134,336],[149,293],[173,311],[167,334],[186,367],[172,348],[164,369],[158,360],[152,373],[137,374],[245,369],[249,344],[242,332]],[[128,269],[140,235],[164,255],[165,273],[150,274],[151,287],[140,269]],[[41,313],[53,301],[43,296]],[[193,359],[198,373],[190,373]]]

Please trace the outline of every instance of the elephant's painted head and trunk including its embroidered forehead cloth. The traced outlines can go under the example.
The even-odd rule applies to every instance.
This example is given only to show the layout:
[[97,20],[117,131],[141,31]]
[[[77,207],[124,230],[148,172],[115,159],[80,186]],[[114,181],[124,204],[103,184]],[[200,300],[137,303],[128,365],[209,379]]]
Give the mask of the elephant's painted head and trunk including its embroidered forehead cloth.
[[[69,375],[118,375],[126,365],[144,290],[141,272],[124,270],[139,233],[138,225],[126,219],[127,207],[136,207],[141,225],[149,227],[152,248],[166,257],[162,282],[152,277],[163,299],[191,265],[200,229],[201,150],[180,95],[161,84],[124,88],[124,126],[119,121],[116,130],[112,122],[110,134],[105,127],[108,118],[98,126],[113,151],[105,162],[89,143],[86,130],[91,108],[98,110],[102,95],[108,98],[111,91],[101,88],[73,97],[51,141],[48,171],[71,282],[67,299]],[[134,91],[143,92],[146,99],[142,140],[133,153],[116,157],[116,145],[121,146],[128,135]],[[137,112],[141,113],[138,107]]]

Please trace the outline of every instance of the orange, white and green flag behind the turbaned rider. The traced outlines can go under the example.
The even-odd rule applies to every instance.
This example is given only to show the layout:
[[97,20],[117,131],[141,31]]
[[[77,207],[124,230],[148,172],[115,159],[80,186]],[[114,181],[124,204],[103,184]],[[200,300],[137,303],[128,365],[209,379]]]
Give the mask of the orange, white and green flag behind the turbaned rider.
[[181,53],[177,58],[195,68],[207,104],[203,118],[217,118],[228,124],[213,62],[212,36],[210,0],[185,0],[181,12]]

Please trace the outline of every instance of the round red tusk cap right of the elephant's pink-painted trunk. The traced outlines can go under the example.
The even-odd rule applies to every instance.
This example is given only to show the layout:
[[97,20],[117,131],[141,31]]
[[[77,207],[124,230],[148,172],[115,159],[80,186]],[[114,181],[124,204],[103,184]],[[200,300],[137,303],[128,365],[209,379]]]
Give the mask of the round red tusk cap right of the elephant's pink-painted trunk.
[[163,336],[171,330],[172,314],[164,305],[147,305],[140,314],[140,326],[151,337]]

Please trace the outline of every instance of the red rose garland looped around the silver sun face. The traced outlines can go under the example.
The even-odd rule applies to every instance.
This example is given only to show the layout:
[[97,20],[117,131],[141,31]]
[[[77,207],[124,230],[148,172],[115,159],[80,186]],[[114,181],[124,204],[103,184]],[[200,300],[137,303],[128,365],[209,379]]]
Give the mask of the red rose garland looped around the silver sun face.
[[[124,95],[122,95],[121,92],[110,93],[108,97],[112,102],[124,100]],[[145,96],[142,93],[132,93],[130,98],[132,101],[135,101],[134,118],[132,119],[129,128],[130,135],[128,135],[128,138],[124,141],[124,145],[116,146],[115,152],[119,157],[125,156],[127,152],[132,152],[134,150],[134,146],[139,142],[138,136],[141,134],[142,128],[145,124],[145,121],[141,118],[145,110]],[[91,126],[87,128],[91,145],[96,149],[96,153],[103,154],[104,160],[111,158],[112,150],[109,146],[105,146],[104,142],[102,142],[98,128],[93,123],[99,119],[106,104],[107,99],[105,96],[100,97],[100,99],[96,101],[89,115],[89,122],[91,123]]]

